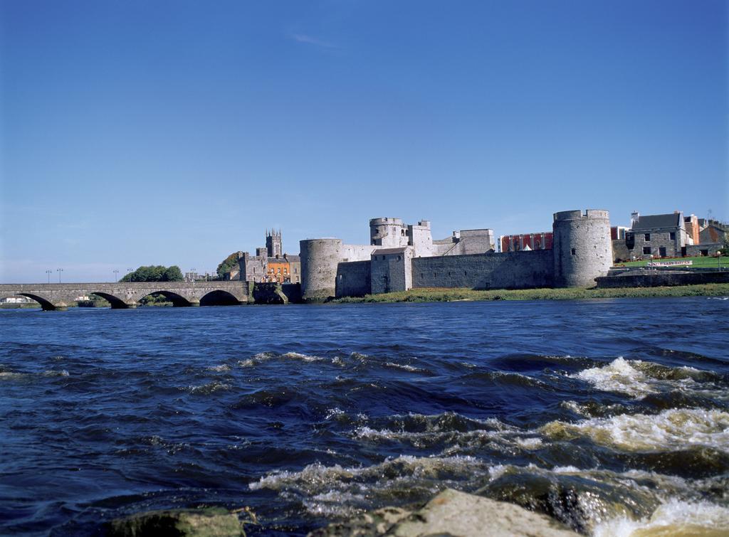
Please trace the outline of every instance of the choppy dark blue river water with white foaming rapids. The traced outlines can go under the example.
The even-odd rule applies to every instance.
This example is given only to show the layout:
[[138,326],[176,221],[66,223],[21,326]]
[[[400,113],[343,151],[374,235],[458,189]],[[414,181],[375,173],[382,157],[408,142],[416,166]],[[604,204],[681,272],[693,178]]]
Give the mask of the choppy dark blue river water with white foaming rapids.
[[443,487],[596,536],[729,531],[729,300],[0,311],[0,533]]

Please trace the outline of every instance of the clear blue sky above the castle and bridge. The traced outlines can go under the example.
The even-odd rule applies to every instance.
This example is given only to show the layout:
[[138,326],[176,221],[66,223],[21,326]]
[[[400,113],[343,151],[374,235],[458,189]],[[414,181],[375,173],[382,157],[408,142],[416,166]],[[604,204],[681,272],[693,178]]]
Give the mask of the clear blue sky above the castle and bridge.
[[375,216],[729,219],[725,1],[0,6],[4,283],[214,270],[267,227],[366,243]]

